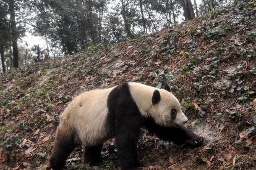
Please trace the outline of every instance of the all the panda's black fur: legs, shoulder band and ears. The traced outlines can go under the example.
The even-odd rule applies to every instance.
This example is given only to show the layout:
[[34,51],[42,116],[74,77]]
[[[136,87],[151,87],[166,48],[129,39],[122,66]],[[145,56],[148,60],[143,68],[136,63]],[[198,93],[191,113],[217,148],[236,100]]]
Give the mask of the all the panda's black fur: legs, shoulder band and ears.
[[[153,104],[160,102],[160,93],[154,91],[151,100]],[[198,137],[185,127],[160,126],[150,116],[145,118],[130,94],[128,83],[114,87],[108,95],[107,105],[106,134],[109,138],[115,137],[118,160],[122,169],[139,169],[137,142],[141,127],[146,127],[150,133],[155,134],[160,139],[172,141],[177,145],[188,144],[192,147],[198,147],[203,143],[202,137]],[[66,132],[66,129],[69,129],[69,132]],[[51,167],[53,169],[63,168],[70,152],[80,143],[79,136],[72,127],[59,127],[50,158]],[[100,164],[102,146],[103,144],[85,146],[85,163]]]

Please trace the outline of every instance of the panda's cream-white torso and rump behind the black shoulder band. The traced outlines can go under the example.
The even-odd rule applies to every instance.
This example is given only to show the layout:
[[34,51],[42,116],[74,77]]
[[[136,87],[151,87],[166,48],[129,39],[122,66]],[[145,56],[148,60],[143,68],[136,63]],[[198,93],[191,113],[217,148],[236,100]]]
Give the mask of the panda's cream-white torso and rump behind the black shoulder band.
[[84,145],[101,144],[106,136],[108,95],[114,87],[95,89],[77,95],[61,114],[61,121],[75,127]]

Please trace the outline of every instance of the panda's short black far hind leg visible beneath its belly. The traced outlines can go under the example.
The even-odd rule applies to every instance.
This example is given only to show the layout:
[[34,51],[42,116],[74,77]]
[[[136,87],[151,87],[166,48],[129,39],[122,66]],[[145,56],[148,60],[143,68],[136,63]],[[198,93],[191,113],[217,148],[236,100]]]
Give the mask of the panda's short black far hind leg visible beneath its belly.
[[95,145],[93,147],[85,147],[85,163],[92,166],[98,166],[102,163],[102,158],[100,156],[103,144]]

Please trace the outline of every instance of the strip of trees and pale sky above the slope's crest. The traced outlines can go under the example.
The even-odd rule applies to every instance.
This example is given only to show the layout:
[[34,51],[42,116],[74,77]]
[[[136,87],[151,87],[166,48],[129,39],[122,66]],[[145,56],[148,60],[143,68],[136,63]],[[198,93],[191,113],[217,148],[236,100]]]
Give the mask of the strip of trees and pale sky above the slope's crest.
[[[0,71],[133,39],[236,3],[197,1],[1,0]],[[31,35],[45,46],[24,40]]]

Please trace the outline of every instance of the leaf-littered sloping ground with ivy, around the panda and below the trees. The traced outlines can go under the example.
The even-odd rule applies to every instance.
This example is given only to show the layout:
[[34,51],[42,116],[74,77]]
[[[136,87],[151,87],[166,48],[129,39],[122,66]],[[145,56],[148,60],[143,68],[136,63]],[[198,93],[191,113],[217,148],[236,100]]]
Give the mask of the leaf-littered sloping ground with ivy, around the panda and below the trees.
[[[254,169],[256,164],[256,1],[214,10],[175,28],[0,75],[0,169],[46,169],[59,114],[82,91],[126,81],[168,82],[205,137],[189,149],[143,131],[143,169]],[[83,164],[83,148],[67,160]],[[117,169],[106,142],[100,169]]]

